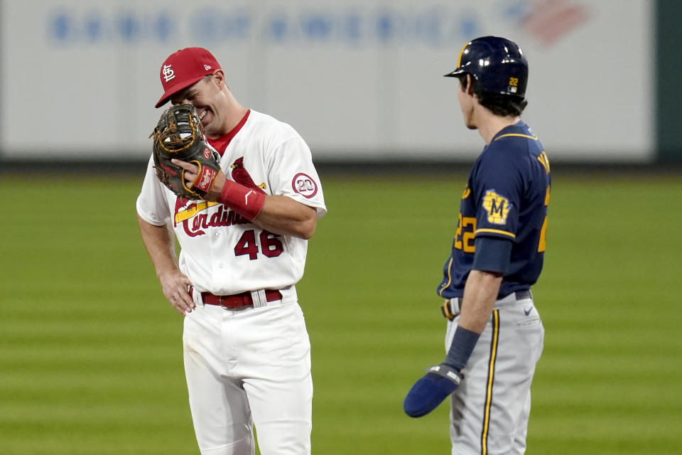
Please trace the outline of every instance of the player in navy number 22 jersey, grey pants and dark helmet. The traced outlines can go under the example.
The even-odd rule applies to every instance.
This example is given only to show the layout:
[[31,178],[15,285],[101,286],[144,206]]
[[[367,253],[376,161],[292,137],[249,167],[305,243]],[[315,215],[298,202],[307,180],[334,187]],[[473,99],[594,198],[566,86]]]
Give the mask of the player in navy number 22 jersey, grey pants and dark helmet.
[[413,385],[404,410],[420,417],[451,396],[453,454],[523,454],[544,336],[531,286],[545,251],[549,162],[521,121],[528,63],[516,43],[470,41],[446,76],[460,81],[465,125],[485,148],[462,192],[438,285],[447,355]]

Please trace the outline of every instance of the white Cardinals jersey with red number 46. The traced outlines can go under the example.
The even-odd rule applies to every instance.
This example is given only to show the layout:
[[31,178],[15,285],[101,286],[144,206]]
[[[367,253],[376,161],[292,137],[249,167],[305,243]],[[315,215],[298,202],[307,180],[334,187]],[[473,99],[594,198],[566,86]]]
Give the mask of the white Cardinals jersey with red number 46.
[[[327,213],[308,144],[290,125],[249,110],[232,132],[210,144],[227,178],[267,195],[288,196]],[[197,291],[215,295],[286,289],[303,276],[308,241],[259,228],[227,205],[178,198],[158,181],[153,159],[137,199],[140,217],[171,222],[180,242],[180,271]]]

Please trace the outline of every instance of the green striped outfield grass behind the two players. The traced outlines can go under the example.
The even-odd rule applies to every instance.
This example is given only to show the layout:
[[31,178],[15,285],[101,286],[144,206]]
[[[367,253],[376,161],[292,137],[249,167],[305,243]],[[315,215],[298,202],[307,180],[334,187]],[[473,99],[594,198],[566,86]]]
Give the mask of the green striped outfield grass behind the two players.
[[[198,454],[141,178],[71,180],[0,178],[0,454]],[[447,406],[410,419],[402,400],[443,358],[435,287],[465,181],[323,176],[298,287],[313,453],[450,453]],[[681,452],[681,196],[673,176],[554,176],[527,454]]]

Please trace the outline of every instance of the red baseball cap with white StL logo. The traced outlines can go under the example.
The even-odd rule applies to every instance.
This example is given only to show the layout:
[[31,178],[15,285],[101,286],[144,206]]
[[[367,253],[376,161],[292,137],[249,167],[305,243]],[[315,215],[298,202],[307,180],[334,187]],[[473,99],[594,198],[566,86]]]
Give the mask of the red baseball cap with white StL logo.
[[220,69],[212,53],[204,48],[184,48],[172,53],[161,65],[159,77],[163,95],[156,103],[156,107],[165,105],[173,94]]

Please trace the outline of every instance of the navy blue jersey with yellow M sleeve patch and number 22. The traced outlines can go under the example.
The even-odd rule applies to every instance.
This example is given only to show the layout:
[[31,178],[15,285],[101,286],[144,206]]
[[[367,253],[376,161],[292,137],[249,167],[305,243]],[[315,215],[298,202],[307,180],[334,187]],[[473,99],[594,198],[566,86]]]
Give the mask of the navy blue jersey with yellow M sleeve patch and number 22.
[[498,132],[478,157],[462,193],[438,295],[451,299],[464,294],[474,242],[482,236],[512,242],[498,298],[530,289],[542,269],[550,186],[549,161],[531,129],[518,122]]

